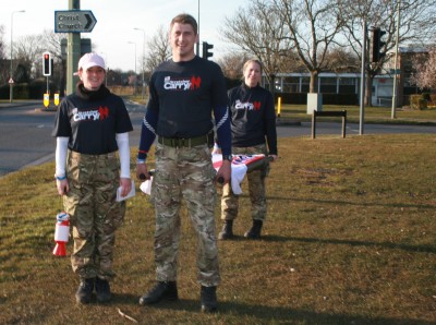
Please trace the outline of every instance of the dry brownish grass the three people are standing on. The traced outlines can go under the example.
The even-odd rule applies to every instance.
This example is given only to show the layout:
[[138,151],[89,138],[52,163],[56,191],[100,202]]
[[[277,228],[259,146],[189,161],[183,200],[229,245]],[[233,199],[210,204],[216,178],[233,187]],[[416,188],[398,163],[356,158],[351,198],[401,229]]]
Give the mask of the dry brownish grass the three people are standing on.
[[[0,179],[1,324],[435,324],[434,135],[280,139],[259,241],[220,241],[219,312],[199,312],[196,239],[183,210],[180,301],[140,306],[155,281],[154,212],[137,194],[118,231],[113,301],[76,305],[55,257],[53,165]],[[153,159],[153,157],[152,157]],[[243,188],[246,193],[246,188]],[[217,205],[217,221],[218,220]],[[71,242],[68,251],[71,252]]]

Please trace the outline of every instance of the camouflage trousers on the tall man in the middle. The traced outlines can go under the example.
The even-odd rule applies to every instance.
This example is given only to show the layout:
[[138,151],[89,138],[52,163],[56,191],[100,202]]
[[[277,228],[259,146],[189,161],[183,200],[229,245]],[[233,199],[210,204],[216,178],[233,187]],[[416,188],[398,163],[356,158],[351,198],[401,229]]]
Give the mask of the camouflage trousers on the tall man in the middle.
[[197,233],[197,279],[220,281],[214,209],[215,170],[207,145],[174,148],[157,144],[152,201],[156,210],[155,261],[158,281],[177,280],[182,198]]

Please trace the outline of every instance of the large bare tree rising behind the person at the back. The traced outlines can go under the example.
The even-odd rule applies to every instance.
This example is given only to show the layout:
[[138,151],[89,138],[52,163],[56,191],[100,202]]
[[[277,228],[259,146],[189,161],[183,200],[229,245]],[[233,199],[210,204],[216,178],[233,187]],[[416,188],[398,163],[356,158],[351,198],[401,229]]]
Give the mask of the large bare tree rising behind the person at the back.
[[343,24],[334,4],[335,0],[254,0],[226,19],[222,35],[266,62],[267,74],[283,65],[293,71],[304,68],[314,93],[318,73],[328,67],[328,49]]

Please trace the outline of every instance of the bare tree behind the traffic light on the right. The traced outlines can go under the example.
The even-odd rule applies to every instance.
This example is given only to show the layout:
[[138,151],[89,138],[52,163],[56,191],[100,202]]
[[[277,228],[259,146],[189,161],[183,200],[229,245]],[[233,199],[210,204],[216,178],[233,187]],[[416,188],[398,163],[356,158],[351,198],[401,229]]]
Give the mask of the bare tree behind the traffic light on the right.
[[[399,2],[401,1],[401,2]],[[391,57],[396,46],[397,13],[400,3],[399,44],[423,45],[432,39],[436,32],[436,5],[433,0],[338,0],[337,8],[346,20],[343,37],[348,45],[362,59],[363,22],[368,27],[379,27],[386,31],[383,37],[385,46],[380,52],[385,56],[377,63],[366,65],[365,104],[371,105],[372,82],[380,68]],[[370,60],[371,39],[366,44],[366,62]]]

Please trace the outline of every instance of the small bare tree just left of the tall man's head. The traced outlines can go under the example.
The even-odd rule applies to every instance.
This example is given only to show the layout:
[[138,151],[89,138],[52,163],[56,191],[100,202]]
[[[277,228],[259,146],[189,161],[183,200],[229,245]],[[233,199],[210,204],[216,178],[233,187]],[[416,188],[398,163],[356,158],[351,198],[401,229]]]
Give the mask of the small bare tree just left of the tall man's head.
[[145,59],[147,71],[154,71],[161,62],[171,58],[171,47],[168,40],[168,31],[160,25],[156,34],[147,41],[148,55]]

